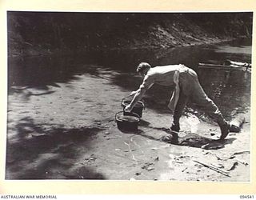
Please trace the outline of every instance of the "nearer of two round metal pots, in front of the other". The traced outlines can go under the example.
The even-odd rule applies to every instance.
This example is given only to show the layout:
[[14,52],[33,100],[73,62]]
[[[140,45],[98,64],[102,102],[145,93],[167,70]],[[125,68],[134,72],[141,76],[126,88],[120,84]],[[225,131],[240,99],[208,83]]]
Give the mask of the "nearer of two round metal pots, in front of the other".
[[[119,130],[136,131],[138,130],[138,122],[140,121],[138,114],[124,115],[123,111],[115,114],[115,122],[117,122]],[[136,116],[137,115],[137,116]]]

